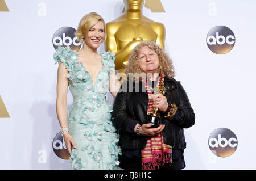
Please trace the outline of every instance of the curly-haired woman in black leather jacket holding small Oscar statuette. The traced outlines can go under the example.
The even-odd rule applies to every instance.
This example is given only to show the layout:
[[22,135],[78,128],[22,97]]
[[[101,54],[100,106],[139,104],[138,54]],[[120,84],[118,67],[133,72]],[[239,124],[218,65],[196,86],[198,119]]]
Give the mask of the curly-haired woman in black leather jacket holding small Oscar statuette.
[[188,96],[171,58],[154,41],[141,41],[125,69],[112,121],[119,130],[122,169],[183,169],[183,128],[195,124]]

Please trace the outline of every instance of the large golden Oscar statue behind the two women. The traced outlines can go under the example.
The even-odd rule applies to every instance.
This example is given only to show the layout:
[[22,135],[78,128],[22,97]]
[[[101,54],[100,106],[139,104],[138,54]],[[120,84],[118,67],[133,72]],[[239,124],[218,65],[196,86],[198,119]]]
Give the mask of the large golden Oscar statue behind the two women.
[[[106,50],[115,52],[115,69],[123,72],[131,50],[142,40],[155,41],[164,48],[166,36],[162,23],[154,22],[142,14],[145,0],[123,0],[125,13],[106,23]],[[154,5],[152,1],[150,5]],[[155,1],[160,2],[160,1]]]

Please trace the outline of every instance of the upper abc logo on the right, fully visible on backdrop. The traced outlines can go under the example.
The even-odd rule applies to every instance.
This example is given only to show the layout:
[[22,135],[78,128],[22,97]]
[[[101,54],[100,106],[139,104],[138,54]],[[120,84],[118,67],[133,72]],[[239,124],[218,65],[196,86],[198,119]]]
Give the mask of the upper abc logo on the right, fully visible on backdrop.
[[235,41],[234,33],[225,26],[216,26],[207,34],[207,46],[217,54],[230,52],[234,47]]

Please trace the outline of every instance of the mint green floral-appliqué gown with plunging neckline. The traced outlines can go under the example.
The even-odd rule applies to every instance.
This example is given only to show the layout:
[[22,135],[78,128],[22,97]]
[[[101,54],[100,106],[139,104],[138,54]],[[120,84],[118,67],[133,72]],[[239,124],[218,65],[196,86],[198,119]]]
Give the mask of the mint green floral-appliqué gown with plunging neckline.
[[102,69],[96,84],[70,47],[60,47],[55,64],[62,62],[68,70],[73,105],[69,110],[68,129],[77,148],[71,151],[71,169],[118,169],[118,134],[110,121],[112,107],[106,102],[110,71],[114,71],[114,54],[101,53]]

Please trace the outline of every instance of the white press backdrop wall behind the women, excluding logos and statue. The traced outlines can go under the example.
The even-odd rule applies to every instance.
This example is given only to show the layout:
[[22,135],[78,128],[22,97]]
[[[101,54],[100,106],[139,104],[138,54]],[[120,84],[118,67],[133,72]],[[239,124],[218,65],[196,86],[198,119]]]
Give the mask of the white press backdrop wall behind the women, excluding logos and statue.
[[[105,22],[122,14],[122,0],[5,0],[0,12],[0,96],[10,118],[0,118],[0,169],[69,169],[70,161],[53,152],[60,131],[56,116],[57,65],[53,34],[77,28],[95,11]],[[256,1],[161,0],[165,13],[143,8],[166,27],[166,50],[174,61],[196,122],[185,129],[185,169],[256,169]],[[215,26],[229,27],[233,49],[216,54],[206,43]],[[104,50],[101,45],[99,52]],[[69,105],[72,97],[69,94]],[[109,96],[109,103],[113,98]],[[208,138],[217,128],[237,136],[237,150],[226,158],[210,151]]]

